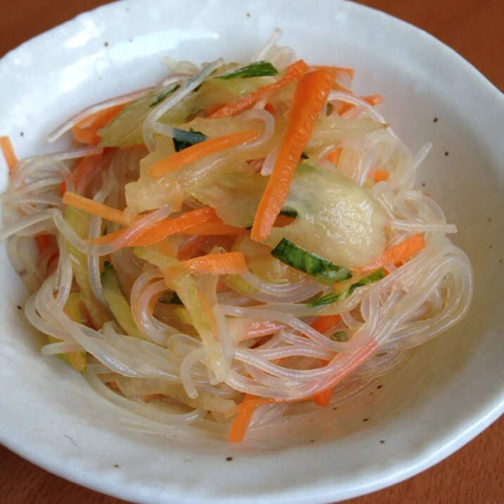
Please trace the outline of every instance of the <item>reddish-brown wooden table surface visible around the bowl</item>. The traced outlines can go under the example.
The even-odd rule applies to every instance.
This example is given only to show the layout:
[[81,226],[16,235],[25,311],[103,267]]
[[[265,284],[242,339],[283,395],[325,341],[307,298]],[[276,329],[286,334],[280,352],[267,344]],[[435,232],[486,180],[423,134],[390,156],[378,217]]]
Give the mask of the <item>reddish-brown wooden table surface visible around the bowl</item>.
[[[107,4],[101,0],[17,0],[0,16],[0,56],[25,40]],[[367,0],[377,8],[433,34],[458,51],[501,91],[504,90],[503,0]],[[0,413],[1,414],[1,413]],[[504,417],[467,446],[431,469],[351,504],[504,502]],[[4,504],[124,501],[49,474],[0,446],[0,501]]]

